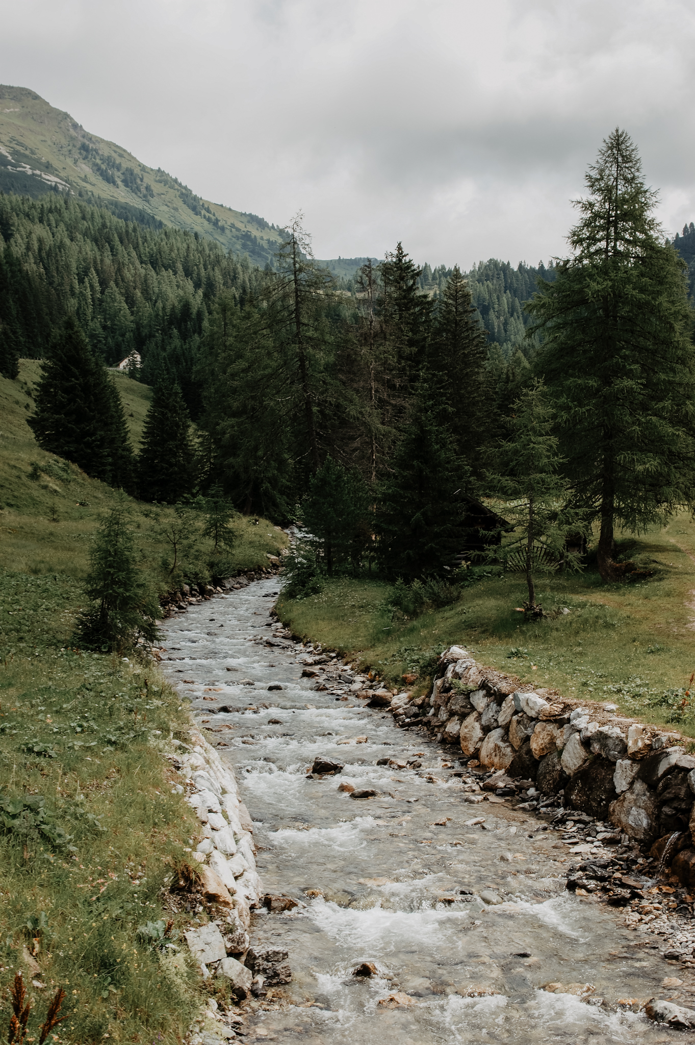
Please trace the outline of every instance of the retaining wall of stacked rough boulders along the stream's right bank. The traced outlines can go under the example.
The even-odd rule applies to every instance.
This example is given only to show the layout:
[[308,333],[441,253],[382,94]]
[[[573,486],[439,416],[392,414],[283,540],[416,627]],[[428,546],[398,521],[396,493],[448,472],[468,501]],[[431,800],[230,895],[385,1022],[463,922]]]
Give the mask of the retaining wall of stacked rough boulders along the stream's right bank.
[[566,808],[608,820],[625,842],[649,846],[680,832],[673,870],[695,885],[695,758],[677,734],[524,689],[458,646],[441,655],[430,694],[402,693],[390,706],[401,726],[426,726],[469,763],[559,792]]

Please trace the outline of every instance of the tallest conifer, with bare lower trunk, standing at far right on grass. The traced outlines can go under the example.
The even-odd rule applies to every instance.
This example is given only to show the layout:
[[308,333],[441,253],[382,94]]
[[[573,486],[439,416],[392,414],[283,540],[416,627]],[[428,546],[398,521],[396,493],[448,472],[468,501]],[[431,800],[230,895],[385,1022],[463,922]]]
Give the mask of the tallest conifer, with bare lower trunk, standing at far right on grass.
[[575,501],[599,522],[609,581],[621,576],[617,526],[640,532],[695,505],[695,357],[682,262],[664,242],[624,131],[603,143],[585,181],[574,256],[529,310]]

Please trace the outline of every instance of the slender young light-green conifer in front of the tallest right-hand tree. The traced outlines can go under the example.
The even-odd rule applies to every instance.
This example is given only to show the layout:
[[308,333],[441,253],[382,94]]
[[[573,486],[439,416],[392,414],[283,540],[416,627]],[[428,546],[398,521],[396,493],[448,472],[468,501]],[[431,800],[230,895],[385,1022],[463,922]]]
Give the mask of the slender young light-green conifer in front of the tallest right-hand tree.
[[559,562],[576,565],[576,556],[566,550],[569,534],[580,527],[564,510],[569,484],[561,474],[564,459],[553,435],[553,411],[543,381],[537,378],[524,389],[513,404],[508,422],[509,436],[499,440],[487,455],[495,471],[487,474],[487,486],[496,497],[506,502],[501,509],[512,530],[489,557],[507,566],[521,567],[526,575],[527,617],[543,616],[535,602],[534,576],[554,572]]

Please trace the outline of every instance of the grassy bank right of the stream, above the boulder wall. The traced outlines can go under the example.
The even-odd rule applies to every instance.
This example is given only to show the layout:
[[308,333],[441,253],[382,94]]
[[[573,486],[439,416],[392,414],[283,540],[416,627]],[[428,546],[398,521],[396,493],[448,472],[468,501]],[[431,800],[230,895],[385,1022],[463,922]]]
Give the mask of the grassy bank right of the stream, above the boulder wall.
[[692,705],[681,706],[695,671],[695,525],[679,515],[664,530],[626,540],[624,552],[651,576],[603,584],[589,566],[542,579],[536,598],[557,616],[536,624],[516,611],[526,598],[519,575],[482,577],[460,602],[411,621],[392,620],[384,606],[388,585],[368,580],[327,582],[318,595],[283,600],[279,611],[297,634],[355,655],[394,684],[460,643],[523,681],[612,700],[626,714],[695,737]]

